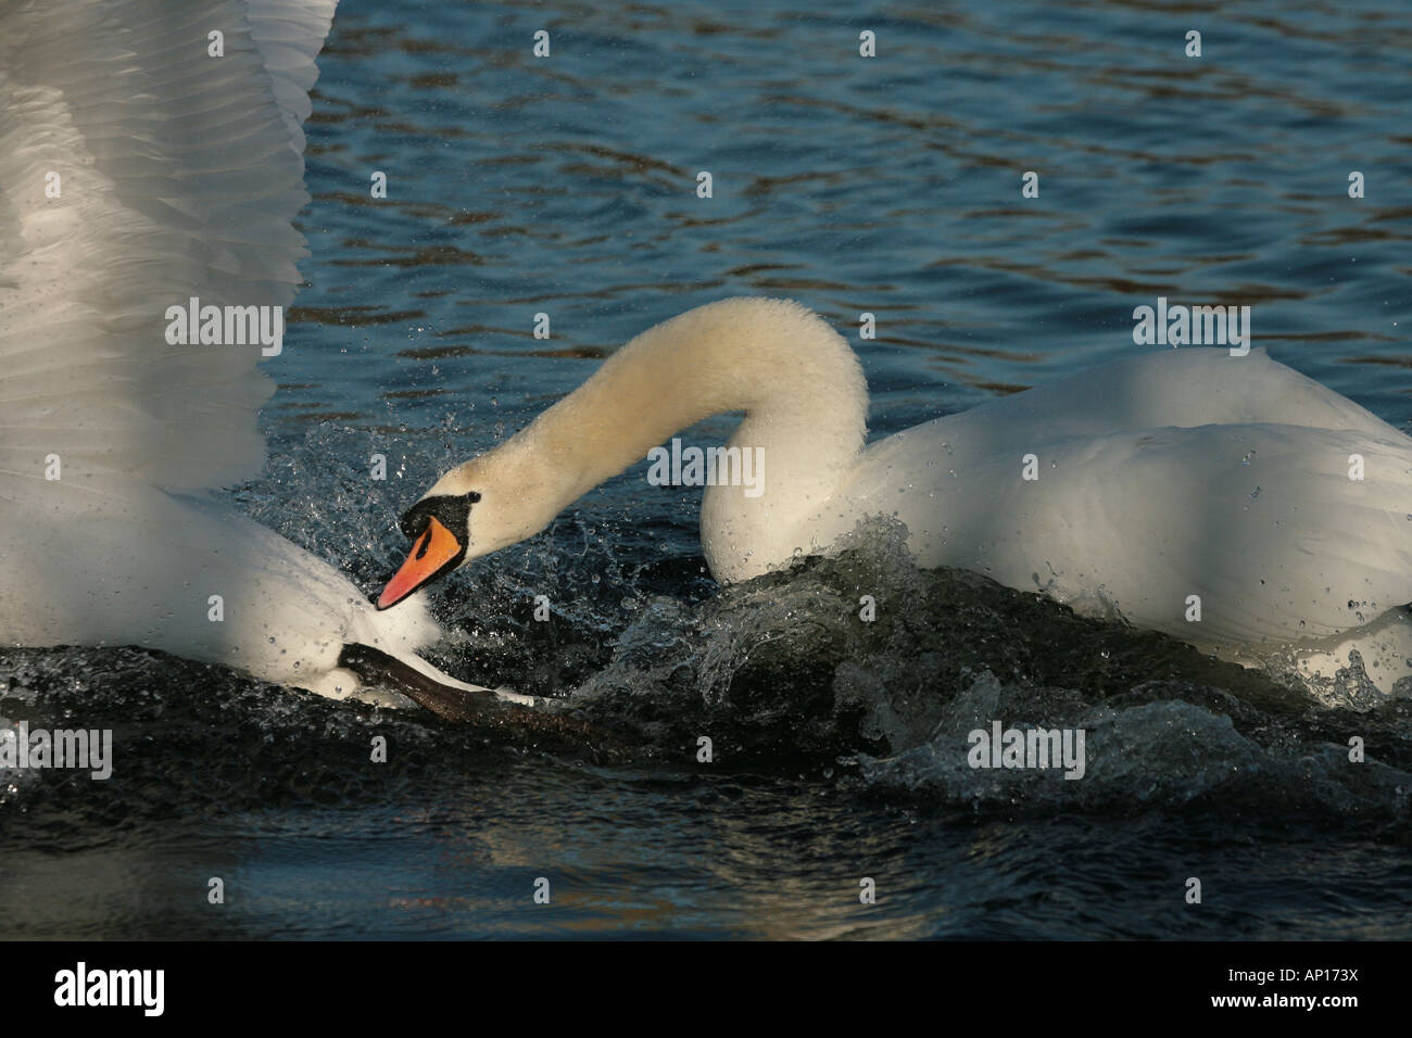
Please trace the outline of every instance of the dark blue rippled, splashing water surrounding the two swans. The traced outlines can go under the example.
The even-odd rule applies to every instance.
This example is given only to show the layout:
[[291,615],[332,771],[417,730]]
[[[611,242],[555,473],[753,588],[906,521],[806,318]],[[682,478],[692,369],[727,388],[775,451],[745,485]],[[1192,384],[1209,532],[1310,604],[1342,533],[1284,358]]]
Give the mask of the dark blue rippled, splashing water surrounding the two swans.
[[[736,294],[850,336],[874,435],[1130,356],[1159,295],[1251,305],[1257,345],[1412,424],[1412,10],[819,7],[346,0],[309,126],[309,284],[241,507],[374,590],[442,469]],[[0,654],[0,713],[82,715],[123,751],[109,782],[0,785],[7,935],[1412,936],[1406,700],[1316,702],[918,573],[885,530],[717,592],[696,510],[634,470],[442,585],[442,665],[603,739],[143,650]],[[895,607],[854,623],[860,590]],[[967,768],[991,717],[1086,727],[1086,778]]]

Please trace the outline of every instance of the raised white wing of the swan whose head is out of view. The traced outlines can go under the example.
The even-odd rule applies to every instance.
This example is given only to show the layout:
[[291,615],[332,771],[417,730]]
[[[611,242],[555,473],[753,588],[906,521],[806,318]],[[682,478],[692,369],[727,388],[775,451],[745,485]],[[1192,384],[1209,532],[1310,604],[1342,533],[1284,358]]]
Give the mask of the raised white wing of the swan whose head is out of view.
[[301,123],[333,7],[0,11],[0,499],[31,496],[51,455],[65,482],[95,486],[258,473],[273,386],[257,363],[273,347],[174,345],[167,312],[292,301]]

